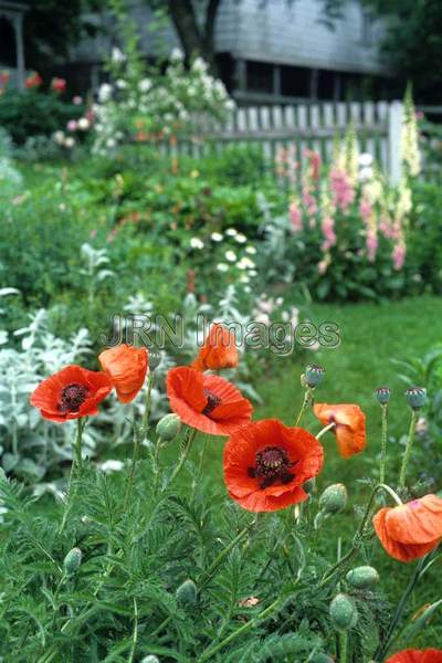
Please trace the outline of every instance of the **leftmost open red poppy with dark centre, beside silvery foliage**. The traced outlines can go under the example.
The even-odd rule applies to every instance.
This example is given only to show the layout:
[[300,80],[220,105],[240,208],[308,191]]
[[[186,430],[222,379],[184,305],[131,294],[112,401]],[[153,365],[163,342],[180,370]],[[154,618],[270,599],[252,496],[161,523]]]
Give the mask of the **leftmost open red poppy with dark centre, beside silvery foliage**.
[[106,373],[73,364],[43,380],[30,400],[42,417],[63,423],[69,419],[98,414],[97,404],[112,389]]

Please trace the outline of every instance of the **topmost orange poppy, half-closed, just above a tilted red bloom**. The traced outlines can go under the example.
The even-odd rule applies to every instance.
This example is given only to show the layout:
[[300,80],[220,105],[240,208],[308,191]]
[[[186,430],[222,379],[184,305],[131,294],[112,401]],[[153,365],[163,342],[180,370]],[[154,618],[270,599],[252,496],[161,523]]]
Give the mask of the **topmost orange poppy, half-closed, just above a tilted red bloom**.
[[238,349],[233,329],[214,323],[191,366],[197,370],[219,370],[238,366]]

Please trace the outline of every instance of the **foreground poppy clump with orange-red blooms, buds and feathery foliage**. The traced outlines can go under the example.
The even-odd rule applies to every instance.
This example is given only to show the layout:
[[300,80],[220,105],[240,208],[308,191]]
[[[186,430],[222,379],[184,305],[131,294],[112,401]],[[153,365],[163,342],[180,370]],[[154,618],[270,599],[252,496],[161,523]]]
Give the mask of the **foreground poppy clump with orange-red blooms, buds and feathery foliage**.
[[[235,361],[231,350],[210,335],[194,364],[210,357],[222,370],[224,351]],[[77,421],[76,453],[57,503],[36,501],[0,473],[4,661],[383,663],[407,645],[411,593],[438,560],[442,499],[402,504],[377,483],[352,537],[330,546],[328,525],[347,511],[347,488],[318,490],[322,442],[336,436],[344,457],[362,451],[359,408],[313,403],[309,392],[303,408],[306,414],[314,404],[323,423],[316,435],[276,419],[252,421],[251,403],[232,383],[186,366],[169,370],[172,413],[154,427],[157,376],[147,359],[140,348],[110,348],[101,355],[103,371],[71,366],[31,397],[45,420],[59,422],[48,425]],[[85,453],[83,431],[110,389],[125,408],[144,382],[133,453],[122,472],[104,474]],[[210,460],[220,436],[229,438],[227,491]],[[348,493],[355,498],[354,487]],[[388,506],[379,507],[380,495]],[[367,564],[375,534],[398,568],[417,560],[396,607],[381,592],[382,573]]]

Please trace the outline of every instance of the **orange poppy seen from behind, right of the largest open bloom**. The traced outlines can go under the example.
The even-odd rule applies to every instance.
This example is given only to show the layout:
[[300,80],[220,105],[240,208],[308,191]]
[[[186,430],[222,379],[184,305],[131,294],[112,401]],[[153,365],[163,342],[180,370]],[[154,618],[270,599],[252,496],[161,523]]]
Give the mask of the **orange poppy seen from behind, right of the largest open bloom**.
[[339,453],[344,459],[349,459],[355,453],[364,451],[366,448],[366,415],[359,406],[316,403],[313,411],[324,425],[336,424],[332,431],[336,435]]

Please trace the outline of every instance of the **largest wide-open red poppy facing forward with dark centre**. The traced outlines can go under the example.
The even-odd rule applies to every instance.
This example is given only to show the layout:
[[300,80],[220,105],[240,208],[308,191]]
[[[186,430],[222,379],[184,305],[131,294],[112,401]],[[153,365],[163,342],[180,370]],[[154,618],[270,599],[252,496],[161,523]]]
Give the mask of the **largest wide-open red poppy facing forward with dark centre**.
[[230,496],[251,512],[270,512],[304,502],[302,484],[323,466],[320,443],[302,428],[277,419],[241,428],[224,448],[224,480]]

